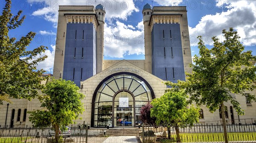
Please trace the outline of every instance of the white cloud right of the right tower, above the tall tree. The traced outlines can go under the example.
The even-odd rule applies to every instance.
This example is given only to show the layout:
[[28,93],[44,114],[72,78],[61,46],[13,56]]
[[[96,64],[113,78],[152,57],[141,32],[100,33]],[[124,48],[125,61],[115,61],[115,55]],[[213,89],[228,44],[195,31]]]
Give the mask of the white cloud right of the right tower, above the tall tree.
[[189,27],[190,42],[196,46],[198,40],[195,38],[202,35],[205,44],[212,45],[212,36],[218,36],[223,40],[222,30],[233,27],[238,31],[240,41],[245,46],[256,44],[256,1],[253,0],[236,0],[224,3],[218,1],[217,6],[225,6],[227,11],[206,15],[201,18],[198,25],[194,28]]

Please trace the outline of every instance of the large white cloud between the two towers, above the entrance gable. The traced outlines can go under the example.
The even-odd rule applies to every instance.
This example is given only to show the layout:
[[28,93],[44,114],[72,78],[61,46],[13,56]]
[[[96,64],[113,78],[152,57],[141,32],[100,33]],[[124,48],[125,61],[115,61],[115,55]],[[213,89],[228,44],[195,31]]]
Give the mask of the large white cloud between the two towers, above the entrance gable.
[[130,28],[129,25],[116,21],[116,26],[105,23],[104,31],[105,56],[123,58],[130,54],[144,54],[143,30],[134,30],[134,27]]

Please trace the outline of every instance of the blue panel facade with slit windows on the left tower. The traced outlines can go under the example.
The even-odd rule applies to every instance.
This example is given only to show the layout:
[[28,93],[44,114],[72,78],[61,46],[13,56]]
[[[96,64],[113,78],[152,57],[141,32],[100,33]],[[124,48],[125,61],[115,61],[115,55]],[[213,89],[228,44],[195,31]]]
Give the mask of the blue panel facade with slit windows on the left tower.
[[96,30],[92,23],[68,23],[63,79],[80,87],[96,73]]

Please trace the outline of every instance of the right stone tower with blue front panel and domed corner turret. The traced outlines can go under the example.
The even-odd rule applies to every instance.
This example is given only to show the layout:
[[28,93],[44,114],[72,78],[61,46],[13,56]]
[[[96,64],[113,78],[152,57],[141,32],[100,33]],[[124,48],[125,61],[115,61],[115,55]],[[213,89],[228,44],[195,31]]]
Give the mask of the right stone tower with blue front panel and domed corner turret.
[[163,80],[185,80],[192,63],[185,6],[143,7],[145,70]]

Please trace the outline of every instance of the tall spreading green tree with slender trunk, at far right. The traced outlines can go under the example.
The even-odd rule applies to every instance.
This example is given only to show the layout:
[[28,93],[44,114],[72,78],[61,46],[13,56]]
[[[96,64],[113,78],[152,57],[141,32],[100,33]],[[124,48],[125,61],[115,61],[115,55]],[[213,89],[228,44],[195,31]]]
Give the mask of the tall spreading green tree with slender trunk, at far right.
[[[195,55],[191,64],[192,73],[187,73],[187,81],[178,81],[177,84],[167,82],[172,90],[185,89],[191,101],[206,105],[210,112],[215,112],[221,107],[222,123],[225,143],[227,139],[227,126],[225,122],[224,102],[230,101],[239,115],[244,115],[239,102],[231,93],[245,95],[246,90],[255,90],[256,66],[251,61],[256,61],[251,51],[244,51],[244,46],[239,42],[237,31],[230,28],[223,30],[224,41],[214,36],[212,49],[207,49],[201,36],[198,36],[199,55]],[[249,101],[256,101],[253,94],[248,95]]]

